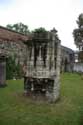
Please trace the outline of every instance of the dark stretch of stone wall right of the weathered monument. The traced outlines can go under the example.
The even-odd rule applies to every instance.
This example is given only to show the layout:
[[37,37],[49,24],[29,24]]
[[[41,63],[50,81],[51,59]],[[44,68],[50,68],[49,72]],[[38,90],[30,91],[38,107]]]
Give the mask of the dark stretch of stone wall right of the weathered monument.
[[70,48],[61,46],[61,71],[72,72],[75,62],[74,51]]

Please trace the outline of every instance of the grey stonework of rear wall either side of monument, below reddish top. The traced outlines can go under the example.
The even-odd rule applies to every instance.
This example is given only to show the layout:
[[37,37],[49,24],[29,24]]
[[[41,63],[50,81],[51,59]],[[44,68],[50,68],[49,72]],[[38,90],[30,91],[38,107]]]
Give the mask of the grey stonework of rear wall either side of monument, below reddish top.
[[[22,41],[7,41],[0,40],[0,53],[6,53],[8,56],[16,57],[16,63],[18,60],[21,64],[26,60],[27,46]],[[72,50],[68,51],[68,48],[61,46],[61,70],[62,71],[72,71],[73,60],[70,58],[70,54],[73,56],[74,52]],[[65,64],[67,61],[67,64]],[[65,69],[66,68],[66,69]]]

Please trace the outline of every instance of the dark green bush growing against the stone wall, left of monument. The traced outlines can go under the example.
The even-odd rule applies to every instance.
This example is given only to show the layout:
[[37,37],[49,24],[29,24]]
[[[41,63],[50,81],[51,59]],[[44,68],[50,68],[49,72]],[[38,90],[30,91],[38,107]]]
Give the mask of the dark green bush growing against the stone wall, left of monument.
[[6,63],[6,79],[13,79],[13,78],[21,78],[22,77],[22,69],[21,65],[16,64],[15,58],[11,56],[7,59]]

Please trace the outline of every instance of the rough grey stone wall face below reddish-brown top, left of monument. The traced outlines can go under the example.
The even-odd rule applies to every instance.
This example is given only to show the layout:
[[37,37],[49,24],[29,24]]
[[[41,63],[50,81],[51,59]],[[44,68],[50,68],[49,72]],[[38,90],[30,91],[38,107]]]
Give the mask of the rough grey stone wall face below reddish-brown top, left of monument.
[[0,40],[0,53],[15,57],[16,63],[19,60],[23,64],[26,57],[26,45],[22,41]]

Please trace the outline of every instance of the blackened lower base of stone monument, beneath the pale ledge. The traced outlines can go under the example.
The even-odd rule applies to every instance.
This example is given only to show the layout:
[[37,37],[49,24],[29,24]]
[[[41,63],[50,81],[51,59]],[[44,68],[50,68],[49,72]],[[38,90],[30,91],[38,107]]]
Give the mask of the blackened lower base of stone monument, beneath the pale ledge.
[[35,100],[55,102],[58,96],[55,93],[57,98],[54,97],[53,88],[54,79],[26,77],[24,80],[24,95],[35,98]]

